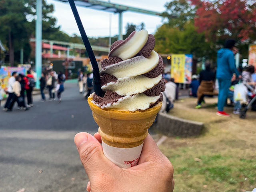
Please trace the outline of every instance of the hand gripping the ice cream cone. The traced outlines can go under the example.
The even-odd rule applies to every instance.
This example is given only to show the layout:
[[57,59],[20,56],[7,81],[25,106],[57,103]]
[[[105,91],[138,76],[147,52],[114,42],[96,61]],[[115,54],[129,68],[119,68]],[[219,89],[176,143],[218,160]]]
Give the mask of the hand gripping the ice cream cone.
[[148,134],[137,166],[119,168],[103,154],[98,133],[76,134],[74,142],[89,177],[92,192],[172,192],[173,166]]

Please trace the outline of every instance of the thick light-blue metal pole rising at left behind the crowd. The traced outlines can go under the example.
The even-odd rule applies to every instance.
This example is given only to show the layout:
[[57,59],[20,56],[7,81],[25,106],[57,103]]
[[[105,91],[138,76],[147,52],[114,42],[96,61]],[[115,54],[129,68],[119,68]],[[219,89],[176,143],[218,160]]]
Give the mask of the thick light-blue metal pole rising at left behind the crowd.
[[42,72],[42,0],[36,0],[36,88]]

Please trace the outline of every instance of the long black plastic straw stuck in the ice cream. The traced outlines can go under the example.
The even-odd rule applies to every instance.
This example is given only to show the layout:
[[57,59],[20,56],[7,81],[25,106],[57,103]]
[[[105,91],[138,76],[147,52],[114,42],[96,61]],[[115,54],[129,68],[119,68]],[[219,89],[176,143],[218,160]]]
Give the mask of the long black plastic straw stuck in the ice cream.
[[79,28],[79,31],[80,31],[80,34],[81,34],[81,37],[82,37],[82,40],[84,42],[84,46],[86,48],[86,51],[88,53],[88,56],[90,58],[90,61],[92,63],[92,72],[93,72],[93,88],[94,88],[94,92],[96,93],[96,95],[100,96],[100,97],[103,97],[104,94],[101,90],[101,85],[100,85],[100,71],[99,71],[99,68],[98,68],[98,63],[96,61],[96,58],[94,56],[94,53],[92,51],[92,47],[90,45],[90,42],[88,40],[88,37],[85,33],[85,30],[84,30],[84,27],[83,27],[83,24],[81,22],[81,19],[80,19],[80,16],[77,12],[77,9],[76,9],[76,5],[74,3],[74,0],[68,0],[69,4],[70,4],[70,7],[72,9],[72,12],[74,14],[74,17],[76,19],[76,24]]

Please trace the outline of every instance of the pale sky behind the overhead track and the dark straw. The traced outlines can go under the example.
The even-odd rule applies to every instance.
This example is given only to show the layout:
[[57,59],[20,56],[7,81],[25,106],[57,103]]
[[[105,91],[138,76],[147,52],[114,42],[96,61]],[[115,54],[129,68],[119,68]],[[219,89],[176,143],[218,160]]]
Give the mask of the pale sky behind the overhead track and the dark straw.
[[[61,26],[61,30],[69,35],[74,33],[79,34],[74,16],[68,3],[63,3],[57,0],[46,0],[48,4],[54,4],[53,16],[57,18],[57,25]],[[104,0],[102,0],[104,1]],[[106,1],[106,0],[105,0]],[[146,10],[153,10],[163,12],[165,10],[164,4],[168,0],[111,0],[112,3],[142,8]],[[90,8],[77,7],[82,23],[84,25],[86,34],[90,37],[108,36],[109,35],[109,20],[110,13],[105,11],[94,10]],[[118,34],[118,14],[111,14],[112,27],[111,35]],[[162,25],[162,18],[159,16],[151,16],[147,14],[139,14],[134,12],[123,13],[123,33],[127,23],[139,25],[144,22],[146,30],[154,34],[156,28]]]

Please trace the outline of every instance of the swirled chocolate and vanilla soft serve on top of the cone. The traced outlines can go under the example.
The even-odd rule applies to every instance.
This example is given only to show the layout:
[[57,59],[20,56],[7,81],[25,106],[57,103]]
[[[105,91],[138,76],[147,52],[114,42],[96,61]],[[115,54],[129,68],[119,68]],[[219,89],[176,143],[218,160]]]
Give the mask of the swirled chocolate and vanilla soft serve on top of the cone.
[[164,66],[154,46],[155,38],[146,30],[114,42],[108,59],[101,61],[104,97],[94,94],[92,102],[103,109],[136,111],[162,101]]

